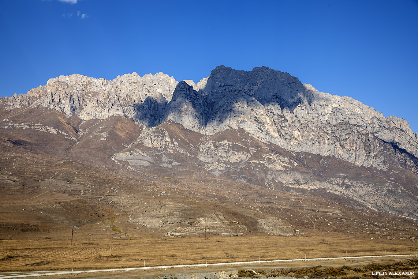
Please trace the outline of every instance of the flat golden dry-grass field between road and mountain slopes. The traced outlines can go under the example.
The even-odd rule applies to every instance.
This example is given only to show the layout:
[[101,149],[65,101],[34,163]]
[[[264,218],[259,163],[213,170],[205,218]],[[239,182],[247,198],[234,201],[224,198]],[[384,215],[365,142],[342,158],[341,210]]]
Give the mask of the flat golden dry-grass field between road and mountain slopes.
[[[58,235],[57,235],[58,236]],[[88,236],[88,235],[87,235]],[[350,237],[285,237],[257,234],[245,237],[208,235],[184,238],[94,239],[74,237],[69,241],[43,239],[0,241],[2,271],[102,269],[240,262],[412,254],[410,241],[365,240]]]

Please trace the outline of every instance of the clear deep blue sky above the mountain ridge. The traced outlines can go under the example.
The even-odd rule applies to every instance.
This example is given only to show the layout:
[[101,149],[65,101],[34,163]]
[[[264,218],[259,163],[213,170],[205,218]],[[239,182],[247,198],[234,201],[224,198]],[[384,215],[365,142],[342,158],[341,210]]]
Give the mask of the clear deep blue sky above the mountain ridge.
[[288,72],[418,132],[418,1],[0,0],[0,97],[59,75]]

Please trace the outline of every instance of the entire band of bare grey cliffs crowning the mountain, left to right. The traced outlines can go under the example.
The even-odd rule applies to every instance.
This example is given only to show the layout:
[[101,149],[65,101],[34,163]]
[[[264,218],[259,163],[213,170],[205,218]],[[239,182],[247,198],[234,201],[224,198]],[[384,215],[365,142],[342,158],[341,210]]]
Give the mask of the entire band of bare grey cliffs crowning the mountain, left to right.
[[[418,134],[406,120],[385,118],[357,100],[319,92],[268,67],[247,72],[218,66],[198,84],[163,73],[134,72],[112,81],[72,74],[0,104],[51,108],[84,120],[121,115],[145,127],[171,120],[206,135],[242,128],[265,143],[359,166],[386,169],[393,158],[414,172],[418,166]],[[382,155],[388,144],[389,157]]]

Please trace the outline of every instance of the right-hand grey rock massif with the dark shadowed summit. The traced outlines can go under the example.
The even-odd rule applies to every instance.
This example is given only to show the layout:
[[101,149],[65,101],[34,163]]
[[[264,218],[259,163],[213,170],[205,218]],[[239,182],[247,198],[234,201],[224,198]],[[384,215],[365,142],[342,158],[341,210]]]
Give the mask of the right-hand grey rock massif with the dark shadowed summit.
[[319,92],[288,73],[268,67],[246,72],[219,66],[200,92],[208,103],[207,113],[201,113],[206,126],[201,125],[204,118],[177,114],[170,119],[206,134],[243,128],[260,141],[288,150],[332,155],[379,169],[388,164],[382,149],[393,143],[411,156],[392,155],[406,156],[402,161],[410,170],[417,169],[418,136],[405,120],[385,118],[350,97]]

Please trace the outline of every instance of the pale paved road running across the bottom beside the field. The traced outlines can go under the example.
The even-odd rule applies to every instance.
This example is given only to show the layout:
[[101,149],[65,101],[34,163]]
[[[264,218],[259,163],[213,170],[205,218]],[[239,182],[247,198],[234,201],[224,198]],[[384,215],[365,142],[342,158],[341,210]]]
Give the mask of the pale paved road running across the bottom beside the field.
[[[313,258],[313,259],[289,259],[289,260],[275,260],[275,261],[241,261],[233,263],[217,263],[217,264],[184,264],[177,266],[151,266],[151,267],[132,267],[132,268],[122,268],[122,269],[93,269],[93,270],[83,270],[80,271],[77,269],[75,273],[90,273],[90,272],[109,272],[109,271],[145,271],[149,269],[168,269],[176,267],[210,267],[210,266],[231,266],[231,265],[243,265],[243,264],[263,264],[263,263],[285,263],[285,262],[295,262],[295,261],[326,261],[326,260],[349,260],[349,259],[373,259],[373,258],[390,258],[390,257],[418,257],[416,254],[407,254],[407,255],[381,255],[381,256],[358,256],[358,257],[336,257],[336,258]],[[21,278],[21,277],[34,277],[34,276],[45,276],[45,275],[59,275],[59,274],[72,274],[72,271],[60,271],[60,270],[51,270],[51,271],[24,271],[24,272],[2,272],[0,273],[0,279],[6,278]]]

